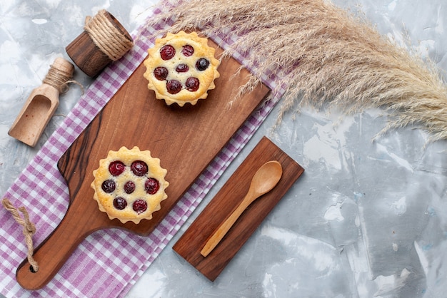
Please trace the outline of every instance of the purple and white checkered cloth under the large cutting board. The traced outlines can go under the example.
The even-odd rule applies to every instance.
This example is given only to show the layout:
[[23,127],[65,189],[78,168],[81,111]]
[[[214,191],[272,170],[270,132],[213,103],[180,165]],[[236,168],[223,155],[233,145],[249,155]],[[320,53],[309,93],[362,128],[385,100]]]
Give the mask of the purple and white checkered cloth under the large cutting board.
[[[154,10],[154,14],[159,12],[160,9]],[[159,25],[169,26],[167,23]],[[37,228],[34,235],[36,244],[44,241],[59,225],[68,207],[69,191],[57,170],[57,161],[146,58],[146,51],[153,45],[153,41],[144,36],[151,36],[153,32],[153,29],[141,26],[133,33],[136,40],[134,48],[96,78],[61,127],[51,135],[4,195],[14,205],[24,205],[29,211],[31,221]],[[233,42],[228,36],[225,41],[219,36],[210,37],[223,48]],[[243,56],[235,55],[234,58],[251,69]],[[272,81],[264,80],[264,83],[271,89],[275,87]],[[279,92],[273,96],[273,100],[253,113],[149,237],[139,237],[120,230],[95,232],[77,247],[56,277],[43,289],[31,292],[17,284],[16,268],[26,258],[24,236],[21,227],[4,208],[0,208],[1,294],[6,297],[123,297],[199,205],[281,95]]]

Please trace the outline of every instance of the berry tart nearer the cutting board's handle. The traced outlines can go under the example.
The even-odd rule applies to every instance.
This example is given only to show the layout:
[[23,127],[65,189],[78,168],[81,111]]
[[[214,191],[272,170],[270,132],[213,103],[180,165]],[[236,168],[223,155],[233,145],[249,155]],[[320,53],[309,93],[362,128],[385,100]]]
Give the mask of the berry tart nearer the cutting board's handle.
[[[140,151],[138,147],[110,150],[106,158],[99,160],[99,168],[93,171],[94,200],[111,220],[117,218],[123,223],[136,224],[142,219],[150,220],[152,213],[160,210],[160,202],[168,197],[166,173],[159,158],[152,158],[149,150]],[[154,180],[158,187],[154,187]]]

